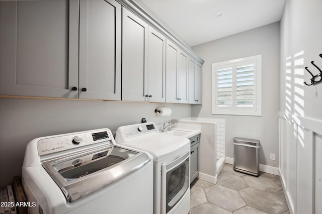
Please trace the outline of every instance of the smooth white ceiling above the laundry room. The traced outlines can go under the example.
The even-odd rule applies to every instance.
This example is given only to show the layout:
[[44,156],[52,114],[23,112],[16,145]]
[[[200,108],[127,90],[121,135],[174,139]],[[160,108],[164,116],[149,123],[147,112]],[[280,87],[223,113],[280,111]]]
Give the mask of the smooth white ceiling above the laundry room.
[[[195,46],[278,22],[285,0],[134,0]],[[139,4],[139,3],[138,3]],[[214,14],[222,11],[222,16]]]

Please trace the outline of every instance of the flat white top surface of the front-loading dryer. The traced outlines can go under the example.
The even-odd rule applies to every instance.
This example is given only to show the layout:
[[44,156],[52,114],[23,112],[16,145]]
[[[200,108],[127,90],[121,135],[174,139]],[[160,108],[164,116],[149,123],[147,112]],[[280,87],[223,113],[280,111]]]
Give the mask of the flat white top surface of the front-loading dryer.
[[190,141],[187,138],[154,133],[131,141],[123,145],[147,151],[153,156],[154,162],[159,162],[169,157],[189,151]]

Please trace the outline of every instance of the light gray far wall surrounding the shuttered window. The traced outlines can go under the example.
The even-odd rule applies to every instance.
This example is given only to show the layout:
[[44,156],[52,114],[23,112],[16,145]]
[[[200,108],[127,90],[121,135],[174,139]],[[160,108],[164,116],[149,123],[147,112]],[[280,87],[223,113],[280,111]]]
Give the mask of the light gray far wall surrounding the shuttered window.
[[[205,60],[202,68],[202,105],[192,106],[192,117],[226,120],[226,157],[233,158],[233,137],[261,141],[260,164],[278,167],[278,110],[280,23],[214,40],[192,48]],[[262,117],[211,114],[211,64],[262,54]],[[276,156],[269,160],[270,153]]]

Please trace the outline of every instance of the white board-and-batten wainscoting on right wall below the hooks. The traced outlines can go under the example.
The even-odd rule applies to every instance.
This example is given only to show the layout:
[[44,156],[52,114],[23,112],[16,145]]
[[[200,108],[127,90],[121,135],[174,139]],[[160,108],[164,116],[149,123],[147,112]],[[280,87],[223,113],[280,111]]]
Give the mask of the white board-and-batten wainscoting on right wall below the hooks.
[[322,188],[318,180],[322,172],[317,164],[321,162],[318,154],[321,151],[322,121],[284,112],[279,112],[278,116],[279,171],[289,211],[321,213]]

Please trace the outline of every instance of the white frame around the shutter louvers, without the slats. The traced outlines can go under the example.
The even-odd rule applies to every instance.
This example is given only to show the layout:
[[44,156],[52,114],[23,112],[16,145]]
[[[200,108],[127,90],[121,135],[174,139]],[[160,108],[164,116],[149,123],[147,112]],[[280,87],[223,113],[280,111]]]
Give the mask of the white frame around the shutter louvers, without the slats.
[[[236,104],[236,67],[237,65],[254,64],[254,106],[237,107]],[[232,67],[232,106],[218,106],[218,69]],[[244,57],[239,59],[228,60],[224,62],[212,63],[212,106],[213,115],[243,115],[243,116],[262,116],[262,55]]]

